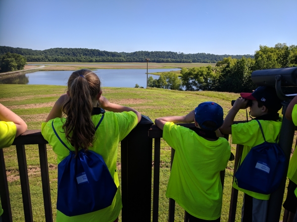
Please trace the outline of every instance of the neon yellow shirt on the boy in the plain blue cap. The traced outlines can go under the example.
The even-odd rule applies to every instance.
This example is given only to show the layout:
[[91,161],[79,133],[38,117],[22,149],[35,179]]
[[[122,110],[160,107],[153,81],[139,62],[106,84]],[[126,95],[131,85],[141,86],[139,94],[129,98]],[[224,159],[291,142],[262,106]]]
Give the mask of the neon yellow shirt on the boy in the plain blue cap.
[[166,196],[194,217],[216,220],[222,210],[220,171],[230,157],[225,138],[208,141],[193,130],[167,122],[163,139],[175,149]]

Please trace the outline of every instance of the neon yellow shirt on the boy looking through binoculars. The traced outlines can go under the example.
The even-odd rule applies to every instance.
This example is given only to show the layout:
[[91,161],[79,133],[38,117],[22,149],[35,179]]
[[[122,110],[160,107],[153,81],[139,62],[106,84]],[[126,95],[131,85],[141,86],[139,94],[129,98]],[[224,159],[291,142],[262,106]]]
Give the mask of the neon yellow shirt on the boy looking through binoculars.
[[[266,141],[275,143],[280,134],[282,122],[279,120],[259,120],[259,122],[261,123]],[[241,163],[251,148],[262,143],[264,143],[264,139],[256,120],[232,125],[232,144],[244,145]],[[233,187],[256,199],[269,200],[270,197],[270,194],[256,193],[240,188],[235,181],[233,182]]]

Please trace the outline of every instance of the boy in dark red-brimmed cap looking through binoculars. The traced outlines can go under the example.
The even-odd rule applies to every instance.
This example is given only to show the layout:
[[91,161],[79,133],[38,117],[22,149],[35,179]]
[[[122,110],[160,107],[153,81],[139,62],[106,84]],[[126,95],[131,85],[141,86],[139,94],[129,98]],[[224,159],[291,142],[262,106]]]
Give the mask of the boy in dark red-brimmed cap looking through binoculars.
[[[253,120],[259,120],[268,143],[277,141],[282,126],[278,111],[282,105],[275,88],[272,87],[260,86],[253,93],[240,95],[241,97],[235,101],[233,108],[228,112],[220,130],[222,133],[232,134],[233,144],[244,145],[242,163],[251,148],[264,143],[259,124]],[[237,112],[240,109],[246,109],[249,100],[251,100],[250,116],[255,118],[246,123],[233,124]],[[240,188],[236,181],[233,182],[233,187],[245,193],[242,222],[266,222],[270,194]]]

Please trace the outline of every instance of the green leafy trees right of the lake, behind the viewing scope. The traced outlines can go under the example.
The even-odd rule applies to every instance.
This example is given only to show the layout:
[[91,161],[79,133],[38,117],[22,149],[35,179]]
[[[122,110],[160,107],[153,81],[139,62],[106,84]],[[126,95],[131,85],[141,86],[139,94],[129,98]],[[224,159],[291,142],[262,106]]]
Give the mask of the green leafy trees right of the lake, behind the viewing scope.
[[293,66],[297,66],[297,45],[260,45],[254,58],[227,57],[217,62],[215,68],[182,68],[180,78],[174,73],[163,73],[158,79],[150,78],[148,86],[188,91],[251,92],[256,88],[251,81],[253,71]]

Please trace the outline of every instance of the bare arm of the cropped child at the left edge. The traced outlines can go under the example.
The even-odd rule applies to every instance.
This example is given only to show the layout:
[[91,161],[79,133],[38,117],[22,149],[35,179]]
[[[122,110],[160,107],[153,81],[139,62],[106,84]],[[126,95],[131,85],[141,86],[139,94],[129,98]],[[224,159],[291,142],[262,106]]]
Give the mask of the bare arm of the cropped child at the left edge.
[[13,111],[10,111],[8,108],[0,104],[0,120],[6,122],[13,122],[16,126],[15,137],[18,137],[27,130],[27,124],[24,120],[15,114]]

